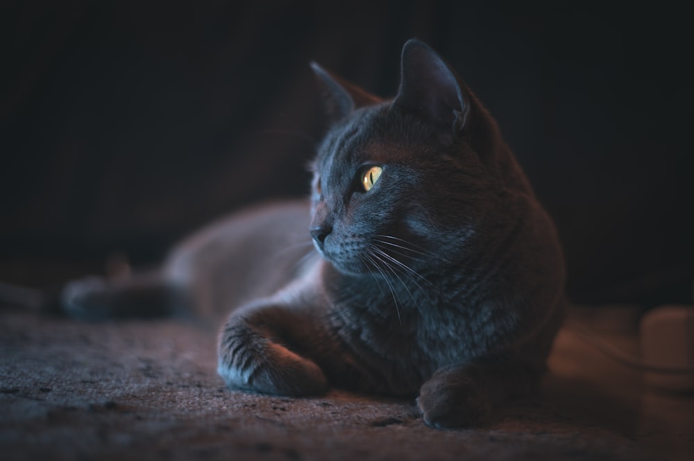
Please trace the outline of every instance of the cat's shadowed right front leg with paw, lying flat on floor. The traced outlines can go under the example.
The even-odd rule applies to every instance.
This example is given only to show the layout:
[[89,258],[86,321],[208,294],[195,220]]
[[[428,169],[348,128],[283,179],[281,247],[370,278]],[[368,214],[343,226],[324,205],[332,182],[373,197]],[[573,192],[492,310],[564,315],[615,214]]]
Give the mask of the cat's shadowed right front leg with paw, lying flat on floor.
[[443,367],[422,385],[417,406],[428,426],[479,426],[501,403],[530,392],[537,377],[530,367],[511,359]]

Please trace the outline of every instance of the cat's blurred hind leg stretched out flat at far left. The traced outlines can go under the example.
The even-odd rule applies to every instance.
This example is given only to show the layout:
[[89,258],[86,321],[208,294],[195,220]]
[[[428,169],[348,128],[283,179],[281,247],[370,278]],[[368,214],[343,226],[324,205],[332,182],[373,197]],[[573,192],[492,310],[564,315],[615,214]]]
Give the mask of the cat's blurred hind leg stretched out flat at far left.
[[154,318],[189,311],[189,296],[159,272],[149,272],[71,281],[62,289],[60,304],[65,314],[83,320]]

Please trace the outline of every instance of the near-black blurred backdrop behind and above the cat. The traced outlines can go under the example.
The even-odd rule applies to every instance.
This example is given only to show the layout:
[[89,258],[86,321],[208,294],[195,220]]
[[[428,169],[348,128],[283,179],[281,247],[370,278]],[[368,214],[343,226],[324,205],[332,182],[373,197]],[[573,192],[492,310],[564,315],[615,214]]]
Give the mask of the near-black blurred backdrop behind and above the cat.
[[0,6],[2,279],[58,284],[115,252],[149,265],[221,214],[305,194],[323,129],[308,62],[392,96],[419,37],[498,119],[573,299],[691,302],[684,6],[58,3]]

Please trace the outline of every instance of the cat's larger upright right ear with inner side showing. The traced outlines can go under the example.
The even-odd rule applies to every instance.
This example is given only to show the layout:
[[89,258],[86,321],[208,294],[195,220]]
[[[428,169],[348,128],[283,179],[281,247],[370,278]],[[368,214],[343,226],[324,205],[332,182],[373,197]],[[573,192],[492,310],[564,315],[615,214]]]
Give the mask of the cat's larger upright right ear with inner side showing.
[[450,143],[462,131],[468,113],[467,89],[427,44],[408,40],[400,64],[400,89],[391,107],[416,112]]

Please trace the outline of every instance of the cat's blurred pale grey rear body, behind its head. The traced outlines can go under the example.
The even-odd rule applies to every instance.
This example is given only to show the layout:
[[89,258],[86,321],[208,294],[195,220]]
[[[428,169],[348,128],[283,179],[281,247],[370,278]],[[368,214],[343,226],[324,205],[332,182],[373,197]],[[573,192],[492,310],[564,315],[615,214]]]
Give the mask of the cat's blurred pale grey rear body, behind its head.
[[305,200],[251,207],[181,241],[164,275],[194,297],[198,313],[221,315],[266,297],[314,263]]

